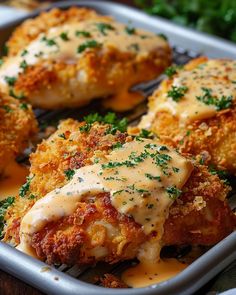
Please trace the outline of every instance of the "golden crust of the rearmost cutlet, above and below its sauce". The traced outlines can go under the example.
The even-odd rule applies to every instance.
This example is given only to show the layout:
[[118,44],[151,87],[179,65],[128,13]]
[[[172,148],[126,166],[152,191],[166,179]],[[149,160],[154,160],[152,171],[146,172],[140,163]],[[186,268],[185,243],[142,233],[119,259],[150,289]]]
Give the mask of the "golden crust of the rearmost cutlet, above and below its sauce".
[[[8,41],[7,59],[24,49],[40,33],[46,33],[49,28],[87,19],[102,21],[109,17],[90,9],[72,7],[68,10],[56,8],[40,14],[35,19],[27,20],[16,29]],[[95,49],[86,52],[76,64],[44,60],[28,66],[17,78],[14,91],[23,92],[33,106],[40,108],[78,107],[92,99],[104,97],[108,98],[105,101],[107,107],[122,111],[132,108],[144,99],[141,93],[129,92],[131,86],[156,78],[171,63],[171,49],[167,42],[155,52],[141,57],[131,50],[121,52],[115,47],[109,48],[103,54],[97,54],[96,51]],[[79,99],[75,89],[72,91],[74,80],[78,77],[78,69],[86,73],[85,82],[83,78],[77,81],[80,91],[77,89],[76,93],[83,93]],[[118,103],[120,92],[129,103],[127,100]],[[115,98],[117,103],[114,104],[111,101]]]

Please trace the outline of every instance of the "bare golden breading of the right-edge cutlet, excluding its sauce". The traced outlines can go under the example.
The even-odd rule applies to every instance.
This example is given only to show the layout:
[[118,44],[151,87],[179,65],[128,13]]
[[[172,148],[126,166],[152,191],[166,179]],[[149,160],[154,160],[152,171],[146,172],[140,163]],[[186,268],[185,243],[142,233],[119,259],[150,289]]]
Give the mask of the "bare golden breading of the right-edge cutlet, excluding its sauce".
[[[194,70],[207,60],[204,57],[195,59],[185,68]],[[171,78],[163,81],[160,88],[150,97],[150,112],[153,110],[155,101],[168,91],[171,83]],[[164,111],[158,112],[151,122],[150,129],[163,142],[178,147],[182,153],[200,155],[206,165],[212,164],[218,170],[223,169],[232,174],[236,173],[235,99],[231,108],[218,111],[211,118],[196,120],[185,126],[179,124],[179,119],[172,114]]]

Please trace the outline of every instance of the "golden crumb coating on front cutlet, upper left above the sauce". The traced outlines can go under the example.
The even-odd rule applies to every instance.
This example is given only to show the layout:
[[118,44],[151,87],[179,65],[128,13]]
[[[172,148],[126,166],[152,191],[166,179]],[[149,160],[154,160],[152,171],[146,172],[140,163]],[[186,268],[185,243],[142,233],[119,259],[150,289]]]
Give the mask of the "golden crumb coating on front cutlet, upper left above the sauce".
[[89,133],[80,132],[82,126],[84,123],[72,119],[63,121],[58,130],[49,139],[43,140],[37,151],[31,154],[28,190],[24,197],[16,198],[7,214],[6,239],[9,242],[19,243],[20,220],[37,199],[65,185],[70,171],[92,164],[91,159],[96,153],[108,153],[113,144],[130,139],[125,133],[105,134],[106,125],[94,124]]

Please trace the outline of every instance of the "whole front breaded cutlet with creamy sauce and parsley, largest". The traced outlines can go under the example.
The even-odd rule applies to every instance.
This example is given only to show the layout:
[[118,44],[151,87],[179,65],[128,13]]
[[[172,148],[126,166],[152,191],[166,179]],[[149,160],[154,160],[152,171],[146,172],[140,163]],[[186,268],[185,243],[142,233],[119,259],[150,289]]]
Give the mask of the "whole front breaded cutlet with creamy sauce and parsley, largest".
[[217,175],[123,124],[88,122],[62,122],[31,155],[6,242],[48,263],[115,263],[157,259],[164,245],[213,245],[233,231]]

